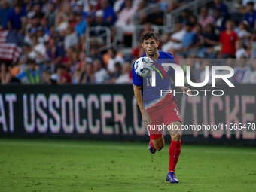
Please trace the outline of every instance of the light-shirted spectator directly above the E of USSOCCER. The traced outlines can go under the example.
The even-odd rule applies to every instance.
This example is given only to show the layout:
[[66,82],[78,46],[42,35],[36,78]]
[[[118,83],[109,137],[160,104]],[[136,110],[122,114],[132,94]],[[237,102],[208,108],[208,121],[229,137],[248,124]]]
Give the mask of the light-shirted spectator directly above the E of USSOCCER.
[[105,80],[109,78],[107,70],[102,67],[102,61],[100,59],[95,59],[93,61],[93,69],[94,69],[94,82],[96,84],[103,84]]

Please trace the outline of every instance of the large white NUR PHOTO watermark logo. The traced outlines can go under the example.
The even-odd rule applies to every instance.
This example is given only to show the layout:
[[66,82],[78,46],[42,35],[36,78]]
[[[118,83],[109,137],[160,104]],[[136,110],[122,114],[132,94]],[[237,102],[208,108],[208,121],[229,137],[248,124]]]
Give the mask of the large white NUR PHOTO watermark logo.
[[[184,71],[181,68],[181,66],[178,66],[177,64],[174,64],[174,63],[162,63],[161,66],[163,68],[161,66],[157,65],[156,63],[154,63],[154,65],[156,65],[163,72],[163,75],[165,75],[165,77],[166,77],[166,72],[168,72],[168,70],[169,70],[169,67],[173,68],[175,71],[175,86],[176,87],[184,87]],[[160,74],[162,80],[163,80],[163,75],[161,74],[160,70],[156,69],[155,67],[152,67],[152,68],[155,69],[155,71],[152,71],[152,73],[151,73],[151,78],[152,78],[151,86],[156,87],[157,86],[156,71]],[[219,72],[219,71],[226,71],[227,73],[217,74],[217,72]],[[209,66],[206,66],[205,67],[205,79],[201,83],[195,83],[195,82],[191,81],[190,66],[187,66],[186,67],[187,84],[189,84],[192,87],[204,87],[209,82],[210,72],[211,72],[211,76],[212,76],[212,87],[216,87],[216,79],[222,79],[222,81],[224,81],[229,87],[235,87],[228,79],[228,78],[233,77],[233,75],[234,75],[233,68],[231,68],[229,66],[212,66],[211,70],[209,70]],[[166,79],[167,79],[167,77],[166,77]],[[191,96],[197,96],[199,94],[198,90],[190,90],[190,91],[191,91]],[[211,91],[211,90],[200,90],[200,91],[204,92],[204,95],[206,96],[206,92]],[[172,93],[172,90],[160,90],[161,96],[166,93]],[[176,92],[176,94],[178,94],[178,93],[182,93],[183,95],[185,95],[185,91]],[[173,90],[173,94],[175,95],[175,90]],[[223,96],[224,90],[212,90],[212,95],[213,96]]]

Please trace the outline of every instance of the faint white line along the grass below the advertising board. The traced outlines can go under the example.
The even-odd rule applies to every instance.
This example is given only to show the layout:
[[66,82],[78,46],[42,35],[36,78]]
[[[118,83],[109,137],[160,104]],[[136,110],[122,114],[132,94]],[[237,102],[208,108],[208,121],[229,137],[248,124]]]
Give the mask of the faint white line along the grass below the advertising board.
[[[29,147],[49,147],[49,148],[86,148],[86,149],[114,149],[114,150],[148,150],[148,145],[144,147],[123,147],[117,145],[75,145],[75,144],[46,144],[40,142],[1,142],[0,145],[13,145],[13,146],[29,146]],[[163,150],[167,151],[169,148],[163,148]],[[248,155],[256,155],[256,152],[242,152],[242,151],[198,151],[198,150],[190,150],[190,149],[182,149],[182,152],[189,153],[206,153],[206,154],[248,154]]]

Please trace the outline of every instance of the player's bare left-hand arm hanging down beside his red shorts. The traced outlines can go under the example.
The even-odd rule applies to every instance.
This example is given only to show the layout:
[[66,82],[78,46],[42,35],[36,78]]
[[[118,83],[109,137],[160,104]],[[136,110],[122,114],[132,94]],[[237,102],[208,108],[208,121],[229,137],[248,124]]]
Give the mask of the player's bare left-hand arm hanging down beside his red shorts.
[[143,104],[143,99],[142,99],[142,86],[136,86],[135,84],[133,84],[133,91],[134,91],[134,96],[135,99],[139,105],[139,110],[142,113],[142,120],[145,124],[145,126],[148,126],[151,124],[151,119],[147,113],[147,111],[145,110],[144,104]]

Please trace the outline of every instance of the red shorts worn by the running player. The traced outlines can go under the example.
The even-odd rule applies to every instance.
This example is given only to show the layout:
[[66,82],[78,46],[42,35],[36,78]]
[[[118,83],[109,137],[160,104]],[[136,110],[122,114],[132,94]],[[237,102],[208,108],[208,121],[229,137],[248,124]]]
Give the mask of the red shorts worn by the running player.
[[163,129],[157,129],[162,123],[166,126],[174,121],[180,121],[182,123],[181,114],[178,111],[176,102],[177,100],[172,94],[167,94],[167,96],[156,105],[146,109],[151,118],[151,127],[148,127],[147,130],[152,140],[163,136]]

